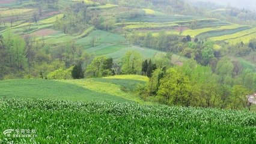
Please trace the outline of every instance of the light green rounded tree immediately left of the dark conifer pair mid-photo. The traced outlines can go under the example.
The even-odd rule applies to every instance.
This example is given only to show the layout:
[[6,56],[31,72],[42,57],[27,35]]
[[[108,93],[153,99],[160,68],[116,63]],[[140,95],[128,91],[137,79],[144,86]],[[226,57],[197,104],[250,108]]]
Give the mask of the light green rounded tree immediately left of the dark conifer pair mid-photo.
[[122,73],[123,74],[136,74],[141,71],[141,53],[136,51],[129,51],[121,58]]

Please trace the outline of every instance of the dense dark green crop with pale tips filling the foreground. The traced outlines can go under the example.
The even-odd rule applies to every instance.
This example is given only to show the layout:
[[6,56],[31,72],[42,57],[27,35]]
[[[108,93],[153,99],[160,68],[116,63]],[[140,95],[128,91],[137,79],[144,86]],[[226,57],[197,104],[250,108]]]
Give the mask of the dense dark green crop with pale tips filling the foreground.
[[[256,143],[256,113],[134,103],[0,100],[0,131],[37,130],[40,143]],[[0,143],[26,143],[6,137]]]

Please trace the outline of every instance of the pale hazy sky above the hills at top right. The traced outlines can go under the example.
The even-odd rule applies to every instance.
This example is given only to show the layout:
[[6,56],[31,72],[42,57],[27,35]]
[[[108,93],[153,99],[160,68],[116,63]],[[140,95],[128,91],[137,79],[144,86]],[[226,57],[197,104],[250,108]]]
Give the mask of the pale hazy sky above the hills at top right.
[[186,0],[186,1],[204,1],[204,2],[215,2],[219,5],[231,5],[237,8],[249,8],[251,10],[256,10],[256,0]]

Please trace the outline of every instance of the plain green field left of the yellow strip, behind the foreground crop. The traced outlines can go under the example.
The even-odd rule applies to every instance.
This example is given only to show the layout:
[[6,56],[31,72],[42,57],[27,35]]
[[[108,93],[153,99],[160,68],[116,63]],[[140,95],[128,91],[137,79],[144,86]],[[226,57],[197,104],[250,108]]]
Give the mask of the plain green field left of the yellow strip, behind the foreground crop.
[[129,101],[108,93],[96,92],[82,86],[53,80],[2,80],[0,98],[46,98],[72,101]]

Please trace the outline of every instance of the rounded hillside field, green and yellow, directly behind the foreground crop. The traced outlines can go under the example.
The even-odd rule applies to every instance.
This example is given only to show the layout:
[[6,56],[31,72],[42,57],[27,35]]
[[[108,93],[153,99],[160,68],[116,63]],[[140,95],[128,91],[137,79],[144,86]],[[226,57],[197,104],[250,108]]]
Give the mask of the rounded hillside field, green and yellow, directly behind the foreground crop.
[[124,75],[82,80],[19,79],[0,81],[0,98],[50,98],[75,101],[135,101],[152,104],[133,94],[147,77]]

